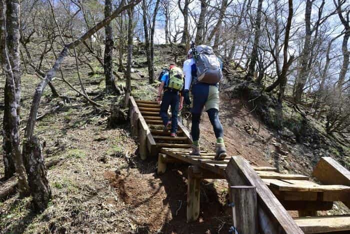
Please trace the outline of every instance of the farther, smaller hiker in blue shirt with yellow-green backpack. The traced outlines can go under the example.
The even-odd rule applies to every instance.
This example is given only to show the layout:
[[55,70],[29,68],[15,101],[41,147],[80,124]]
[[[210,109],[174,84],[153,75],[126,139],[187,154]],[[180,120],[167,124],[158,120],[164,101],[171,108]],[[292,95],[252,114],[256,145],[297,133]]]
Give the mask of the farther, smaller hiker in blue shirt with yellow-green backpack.
[[[177,112],[182,109],[183,97],[180,95],[183,89],[183,73],[179,67],[170,64],[168,71],[160,77],[157,102],[160,104],[161,92],[163,97],[160,104],[160,117],[164,124],[164,131],[170,128],[170,136],[176,136],[177,130]],[[171,106],[171,121],[168,119],[167,109]]]

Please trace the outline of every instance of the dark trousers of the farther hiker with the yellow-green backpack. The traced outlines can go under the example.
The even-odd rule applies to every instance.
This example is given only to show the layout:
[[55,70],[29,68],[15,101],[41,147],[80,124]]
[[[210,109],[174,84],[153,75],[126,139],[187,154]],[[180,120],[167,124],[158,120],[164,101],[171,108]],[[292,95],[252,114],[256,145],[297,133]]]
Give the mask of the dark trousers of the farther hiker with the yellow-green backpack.
[[164,92],[163,98],[160,104],[159,115],[165,126],[169,121],[169,118],[167,116],[167,109],[169,108],[169,106],[171,106],[171,132],[172,133],[176,133],[176,130],[177,130],[177,112],[178,112],[179,103],[180,103],[180,97],[178,95],[178,92],[173,92],[169,90]]

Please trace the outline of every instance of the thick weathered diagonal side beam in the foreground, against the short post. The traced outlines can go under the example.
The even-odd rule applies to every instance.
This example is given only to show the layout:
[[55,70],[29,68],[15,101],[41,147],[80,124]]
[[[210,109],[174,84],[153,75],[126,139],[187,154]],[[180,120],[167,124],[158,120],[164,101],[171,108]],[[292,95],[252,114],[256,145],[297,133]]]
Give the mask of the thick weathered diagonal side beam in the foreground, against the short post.
[[225,173],[231,185],[256,187],[259,233],[303,233],[259,175],[242,157],[231,157]]

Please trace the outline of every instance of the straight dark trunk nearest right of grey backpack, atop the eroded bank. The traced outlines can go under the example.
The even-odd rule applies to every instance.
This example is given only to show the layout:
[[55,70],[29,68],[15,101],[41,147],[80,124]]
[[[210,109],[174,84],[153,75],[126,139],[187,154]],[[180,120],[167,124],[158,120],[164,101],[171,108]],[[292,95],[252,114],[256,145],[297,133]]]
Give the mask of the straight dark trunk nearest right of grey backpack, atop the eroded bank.
[[253,43],[253,49],[251,51],[250,63],[249,63],[249,68],[247,73],[248,80],[250,80],[253,77],[253,74],[255,71],[255,63],[257,61],[257,47],[259,46],[260,35],[261,35],[260,24],[261,24],[262,1],[263,0],[258,0],[258,3],[257,3],[254,43]]

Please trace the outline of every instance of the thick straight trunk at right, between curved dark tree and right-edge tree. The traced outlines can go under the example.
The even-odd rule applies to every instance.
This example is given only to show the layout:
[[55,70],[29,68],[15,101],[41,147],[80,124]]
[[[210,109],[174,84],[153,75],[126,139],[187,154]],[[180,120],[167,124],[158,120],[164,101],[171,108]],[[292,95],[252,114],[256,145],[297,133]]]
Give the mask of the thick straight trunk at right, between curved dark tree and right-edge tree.
[[301,101],[302,92],[304,89],[304,86],[306,84],[306,80],[308,77],[309,70],[307,68],[307,62],[309,60],[310,55],[310,41],[311,41],[311,10],[312,10],[312,2],[310,0],[306,1],[306,8],[305,8],[305,41],[304,41],[304,47],[301,52],[300,57],[300,70],[299,70],[299,76],[296,78],[295,81],[295,92],[294,92],[294,101],[295,103],[299,103]]

